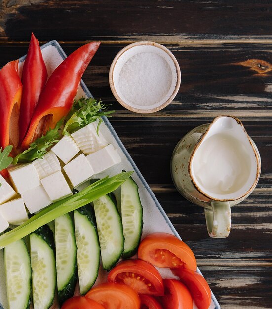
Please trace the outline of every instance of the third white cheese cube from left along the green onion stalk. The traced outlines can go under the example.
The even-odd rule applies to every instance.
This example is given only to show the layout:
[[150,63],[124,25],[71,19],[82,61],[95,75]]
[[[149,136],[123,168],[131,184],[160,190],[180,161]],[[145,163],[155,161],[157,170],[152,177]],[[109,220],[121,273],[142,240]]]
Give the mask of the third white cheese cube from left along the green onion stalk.
[[21,193],[21,196],[31,214],[52,203],[42,185]]

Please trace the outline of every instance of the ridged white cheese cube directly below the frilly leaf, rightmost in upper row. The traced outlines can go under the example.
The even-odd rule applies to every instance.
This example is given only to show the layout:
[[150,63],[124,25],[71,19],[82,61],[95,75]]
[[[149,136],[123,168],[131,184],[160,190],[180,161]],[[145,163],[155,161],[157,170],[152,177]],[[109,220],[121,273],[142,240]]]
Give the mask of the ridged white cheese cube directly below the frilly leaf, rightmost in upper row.
[[92,122],[71,134],[84,154],[92,154],[108,144],[101,132],[97,134],[97,125],[97,121]]

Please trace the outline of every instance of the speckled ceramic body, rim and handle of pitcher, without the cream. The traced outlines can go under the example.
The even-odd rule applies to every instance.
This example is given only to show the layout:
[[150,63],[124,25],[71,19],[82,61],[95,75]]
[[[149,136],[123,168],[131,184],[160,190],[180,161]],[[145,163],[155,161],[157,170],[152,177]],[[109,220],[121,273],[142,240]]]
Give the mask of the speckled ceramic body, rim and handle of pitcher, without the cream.
[[[251,167],[245,185],[234,193],[213,194],[200,186],[194,174],[194,156],[200,145],[215,134],[227,134],[245,143]],[[208,172],[208,171],[207,171]],[[218,171],[220,173],[220,171]],[[205,208],[208,232],[213,238],[225,238],[231,228],[230,207],[243,201],[256,187],[261,173],[259,151],[247,135],[241,121],[232,116],[219,116],[212,123],[203,124],[186,134],[174,149],[171,175],[177,190],[192,203]]]

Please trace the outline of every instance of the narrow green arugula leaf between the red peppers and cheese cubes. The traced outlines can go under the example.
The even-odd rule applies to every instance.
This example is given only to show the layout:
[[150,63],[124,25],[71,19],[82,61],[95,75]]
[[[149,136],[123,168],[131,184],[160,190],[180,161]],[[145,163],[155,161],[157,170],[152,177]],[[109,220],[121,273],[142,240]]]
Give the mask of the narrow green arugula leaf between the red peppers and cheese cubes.
[[18,154],[13,159],[13,164],[19,163],[27,163],[32,162],[35,159],[42,158],[43,154],[47,152],[47,149],[51,147],[52,145],[56,144],[60,138],[60,127],[63,124],[63,119],[61,119],[54,129],[49,129],[49,131],[46,132],[45,135],[41,136],[40,138],[37,138],[33,143],[30,144],[29,148],[22,152],[21,154]]

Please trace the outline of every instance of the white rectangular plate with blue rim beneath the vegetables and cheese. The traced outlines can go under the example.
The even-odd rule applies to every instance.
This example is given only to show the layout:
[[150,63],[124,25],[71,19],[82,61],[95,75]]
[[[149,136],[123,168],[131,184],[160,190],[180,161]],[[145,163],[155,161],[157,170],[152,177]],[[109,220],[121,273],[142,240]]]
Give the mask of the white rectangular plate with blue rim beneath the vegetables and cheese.
[[[47,67],[48,76],[54,71],[54,69],[67,57],[64,53],[63,49],[59,45],[57,41],[50,41],[41,46],[42,55]],[[99,50],[98,50],[99,52]],[[25,57],[19,59],[19,72],[21,74],[23,63]],[[82,96],[90,97],[92,96],[89,89],[86,87],[85,83],[81,81],[80,87],[78,89],[77,97],[80,98]],[[128,154],[124,145],[120,141],[117,136],[115,130],[113,129],[111,123],[107,118],[103,118],[104,123],[101,124],[100,129],[102,134],[105,136],[109,143],[112,143],[114,147],[117,149],[119,155],[121,156],[122,163],[112,168],[110,171],[107,171],[105,174],[101,174],[100,176],[110,175],[113,176],[117,173],[120,173],[122,170],[131,171],[134,170],[132,175],[133,179],[139,186],[139,194],[141,198],[141,202],[144,208],[143,215],[143,235],[144,238],[146,235],[153,232],[165,232],[169,234],[173,234],[176,237],[179,237],[179,234],[175,230],[174,226],[170,222],[166,213],[162,209],[158,200],[156,199],[154,193],[151,191],[147,182],[143,178],[139,169],[133,162],[131,156]],[[158,269],[163,278],[173,278],[173,274],[168,269]],[[201,274],[199,269],[197,271]],[[99,276],[95,284],[100,282],[106,282],[107,272],[100,268]],[[7,309],[7,300],[6,300],[6,291],[5,291],[5,275],[4,275],[4,265],[3,265],[3,250],[0,250],[0,309]],[[53,307],[53,306],[52,306]],[[57,308],[54,306],[54,308]],[[197,307],[194,305],[194,309]],[[215,296],[212,294],[212,302],[209,309],[220,309],[220,305],[216,300]]]

